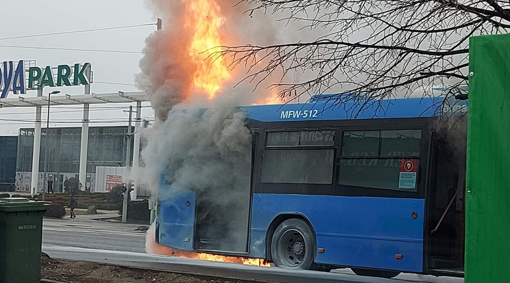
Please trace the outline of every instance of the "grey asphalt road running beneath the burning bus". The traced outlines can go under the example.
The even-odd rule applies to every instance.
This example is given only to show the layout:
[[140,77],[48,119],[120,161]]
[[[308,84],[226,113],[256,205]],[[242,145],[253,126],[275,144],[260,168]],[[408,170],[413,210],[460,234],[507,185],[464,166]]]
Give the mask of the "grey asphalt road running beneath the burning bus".
[[86,215],[78,215],[76,219],[45,218],[42,228],[42,251],[53,258],[263,282],[463,282],[461,278],[437,278],[405,273],[398,275],[396,279],[387,280],[354,275],[350,269],[337,269],[325,273],[154,256],[145,254],[145,232],[136,230],[138,225],[110,223],[90,218]]

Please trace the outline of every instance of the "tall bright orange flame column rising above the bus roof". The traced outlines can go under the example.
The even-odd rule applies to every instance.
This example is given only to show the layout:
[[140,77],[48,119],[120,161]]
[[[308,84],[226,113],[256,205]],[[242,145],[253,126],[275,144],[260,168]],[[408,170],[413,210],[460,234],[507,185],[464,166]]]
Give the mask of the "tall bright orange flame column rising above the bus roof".
[[222,57],[208,57],[215,52],[213,48],[221,44],[221,10],[215,0],[185,0],[184,3],[187,4],[189,12],[186,26],[191,27],[193,32],[189,55],[191,62],[197,67],[193,83],[197,90],[206,92],[209,99],[212,99],[221,89],[223,82],[230,78],[230,72]]

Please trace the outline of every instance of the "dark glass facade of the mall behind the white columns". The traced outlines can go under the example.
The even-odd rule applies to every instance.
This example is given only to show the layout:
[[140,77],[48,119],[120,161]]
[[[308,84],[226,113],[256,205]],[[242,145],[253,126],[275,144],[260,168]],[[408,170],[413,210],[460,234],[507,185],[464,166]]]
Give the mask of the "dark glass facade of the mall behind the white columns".
[[[132,128],[134,131],[134,127]],[[48,142],[47,142],[48,141]],[[45,152],[48,144],[47,172],[77,173],[80,171],[80,145],[82,128],[42,129],[39,172],[45,171]],[[131,143],[131,150],[134,142]],[[88,131],[88,174],[95,173],[96,166],[125,166],[127,126],[90,127]],[[34,129],[20,129],[17,172],[32,171]],[[130,163],[133,158],[131,157]]]

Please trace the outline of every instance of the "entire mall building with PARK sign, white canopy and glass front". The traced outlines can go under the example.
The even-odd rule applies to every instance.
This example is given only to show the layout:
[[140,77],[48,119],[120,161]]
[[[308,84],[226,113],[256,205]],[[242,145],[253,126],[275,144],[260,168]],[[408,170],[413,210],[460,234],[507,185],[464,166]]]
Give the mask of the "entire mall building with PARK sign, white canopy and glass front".
[[[53,180],[53,191],[61,192],[65,180],[76,177],[82,190],[106,192],[122,183],[134,183],[136,190],[132,198],[148,195],[134,180],[136,176],[128,173],[138,172],[141,163],[141,112],[142,103],[147,101],[145,92],[91,93],[90,63],[45,67],[37,66],[34,60],[0,63],[0,72],[10,78],[0,83],[0,113],[7,108],[33,109],[36,117],[34,127],[20,129],[17,137],[0,137],[0,191],[14,189],[34,195],[46,189],[47,180]],[[84,92],[65,94],[68,86],[82,86]],[[61,87],[64,93],[45,87]],[[27,91],[37,94],[28,96]],[[9,97],[9,94],[16,96]],[[134,122],[131,129],[127,121],[126,126],[89,126],[90,105],[115,103],[131,105],[129,123]],[[42,129],[42,109],[47,108],[50,113],[51,107],[66,105],[83,107],[82,125]],[[133,119],[131,113],[136,113]],[[47,119],[48,125],[49,116]]]

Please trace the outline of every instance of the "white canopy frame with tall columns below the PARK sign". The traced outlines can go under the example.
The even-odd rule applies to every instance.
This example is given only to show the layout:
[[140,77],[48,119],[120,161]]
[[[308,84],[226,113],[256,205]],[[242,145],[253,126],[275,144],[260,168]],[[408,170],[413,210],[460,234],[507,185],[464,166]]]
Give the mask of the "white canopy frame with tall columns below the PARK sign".
[[[82,120],[82,143],[80,146],[80,182],[86,184],[86,165],[87,165],[87,148],[88,148],[88,114],[91,104],[104,103],[136,103],[136,120],[134,132],[134,152],[133,166],[138,167],[138,157],[140,152],[140,133],[142,102],[149,101],[145,92],[110,92],[104,94],[64,94],[51,96],[36,96],[18,98],[0,98],[0,109],[10,107],[35,107],[36,122],[34,126],[34,154],[32,155],[32,196],[36,194],[38,184],[39,171],[39,152],[40,152],[40,136],[41,136],[41,109],[47,105],[83,105]],[[128,166],[129,164],[127,164]],[[44,189],[44,185],[43,185]],[[134,193],[136,198],[136,191]]]

